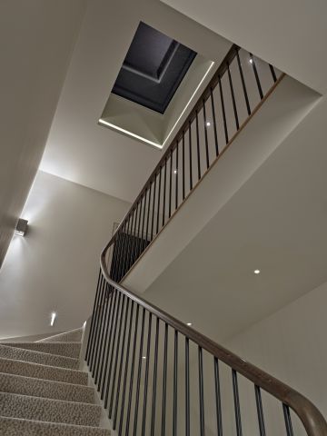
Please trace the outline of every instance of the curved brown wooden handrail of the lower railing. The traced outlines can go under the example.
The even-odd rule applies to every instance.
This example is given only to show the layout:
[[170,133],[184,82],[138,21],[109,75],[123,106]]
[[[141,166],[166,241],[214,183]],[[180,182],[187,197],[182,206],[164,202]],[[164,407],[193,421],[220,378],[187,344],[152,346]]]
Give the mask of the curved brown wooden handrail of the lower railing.
[[132,299],[148,312],[152,312],[163,322],[169,324],[174,330],[182,333],[184,336],[201,346],[203,350],[213,354],[214,357],[227,364],[234,371],[239,372],[246,379],[253,381],[255,385],[259,386],[264,391],[269,392],[273,397],[282,401],[285,405],[291,407],[292,411],[294,411],[302,421],[309,436],[327,436],[327,422],[322,416],[321,411],[318,410],[312,401],[308,400],[300,392],[293,390],[287,384],[272,377],[272,375],[262,371],[252,363],[244,361],[241,357],[228,351],[218,343],[213,342],[207,336],[204,336],[200,332],[196,332],[192,327],[187,326],[184,322],[177,320],[151,302],[147,302],[134,292],[128,291],[121,284],[114,282],[110,278],[105,262],[106,254],[110,245],[111,242],[107,243],[100,258],[101,270],[108,284],[112,285],[119,292],[124,293],[124,295]]

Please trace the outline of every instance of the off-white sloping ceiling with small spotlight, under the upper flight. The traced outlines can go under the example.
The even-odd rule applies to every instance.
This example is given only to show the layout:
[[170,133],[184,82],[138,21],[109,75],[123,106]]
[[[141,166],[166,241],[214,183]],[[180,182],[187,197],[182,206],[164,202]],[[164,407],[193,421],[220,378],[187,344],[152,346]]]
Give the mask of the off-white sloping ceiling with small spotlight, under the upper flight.
[[326,112],[323,97],[145,299],[223,341],[327,281]]

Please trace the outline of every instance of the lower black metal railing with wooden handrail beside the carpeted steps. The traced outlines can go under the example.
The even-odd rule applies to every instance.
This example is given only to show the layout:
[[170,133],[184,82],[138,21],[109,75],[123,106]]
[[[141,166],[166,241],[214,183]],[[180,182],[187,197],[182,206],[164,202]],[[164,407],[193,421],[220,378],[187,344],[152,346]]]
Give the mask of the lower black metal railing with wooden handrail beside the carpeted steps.
[[299,392],[114,282],[106,250],[86,362],[119,436],[327,435]]

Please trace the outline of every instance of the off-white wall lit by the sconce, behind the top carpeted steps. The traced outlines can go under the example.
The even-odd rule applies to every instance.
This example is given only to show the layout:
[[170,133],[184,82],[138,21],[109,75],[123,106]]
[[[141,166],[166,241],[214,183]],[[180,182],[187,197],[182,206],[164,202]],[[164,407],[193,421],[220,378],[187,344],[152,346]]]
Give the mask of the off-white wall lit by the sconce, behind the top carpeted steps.
[[101,250],[129,206],[37,173],[22,213],[28,233],[14,236],[0,272],[0,338],[82,325],[92,312]]

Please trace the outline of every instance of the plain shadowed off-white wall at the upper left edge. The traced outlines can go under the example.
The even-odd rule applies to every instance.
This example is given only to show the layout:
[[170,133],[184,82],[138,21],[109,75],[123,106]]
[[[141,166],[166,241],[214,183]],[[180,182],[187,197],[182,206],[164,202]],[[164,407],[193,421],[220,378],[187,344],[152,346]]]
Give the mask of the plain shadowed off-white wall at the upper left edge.
[[0,2],[0,266],[45,148],[84,6]]

